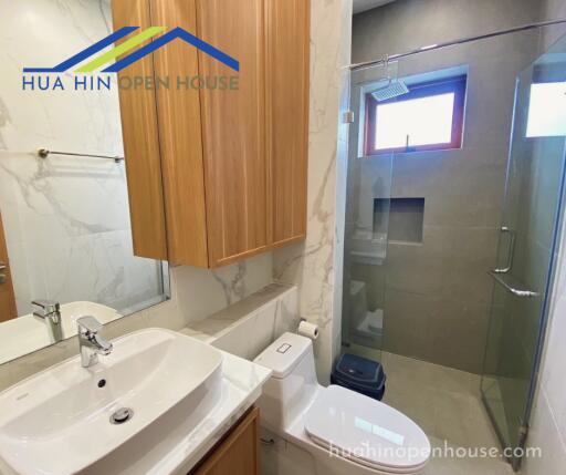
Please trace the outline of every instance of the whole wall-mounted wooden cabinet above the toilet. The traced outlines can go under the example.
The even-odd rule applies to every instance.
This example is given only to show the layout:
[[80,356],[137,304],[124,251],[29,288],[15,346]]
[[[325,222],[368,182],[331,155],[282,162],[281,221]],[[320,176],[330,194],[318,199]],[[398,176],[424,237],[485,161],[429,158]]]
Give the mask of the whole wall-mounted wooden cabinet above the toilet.
[[211,268],[304,239],[310,2],[124,0],[113,14],[115,29],[181,27],[240,62],[176,40],[119,73],[168,79],[120,89],[136,255]]

